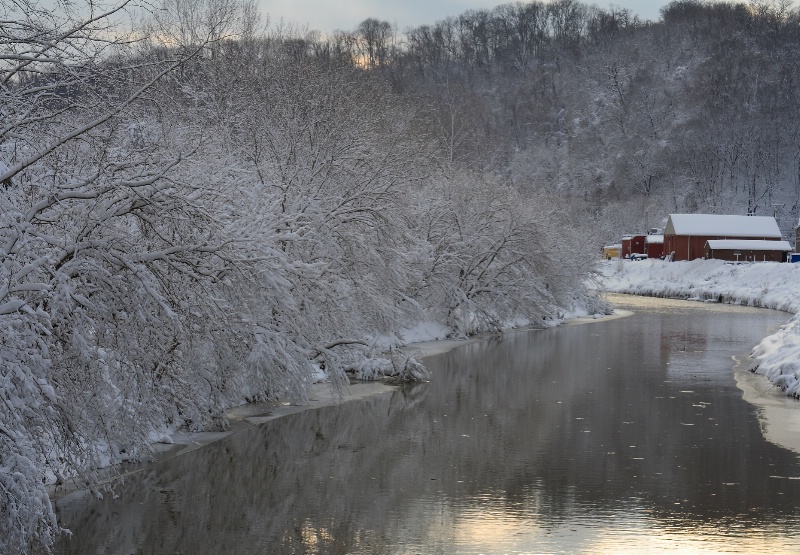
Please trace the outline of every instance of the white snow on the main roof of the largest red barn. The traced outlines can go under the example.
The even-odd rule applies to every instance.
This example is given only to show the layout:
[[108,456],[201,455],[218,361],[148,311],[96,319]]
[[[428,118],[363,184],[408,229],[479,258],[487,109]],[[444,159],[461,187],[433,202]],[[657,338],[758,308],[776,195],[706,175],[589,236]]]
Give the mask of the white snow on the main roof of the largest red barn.
[[778,222],[771,216],[718,214],[670,214],[664,235],[781,238]]

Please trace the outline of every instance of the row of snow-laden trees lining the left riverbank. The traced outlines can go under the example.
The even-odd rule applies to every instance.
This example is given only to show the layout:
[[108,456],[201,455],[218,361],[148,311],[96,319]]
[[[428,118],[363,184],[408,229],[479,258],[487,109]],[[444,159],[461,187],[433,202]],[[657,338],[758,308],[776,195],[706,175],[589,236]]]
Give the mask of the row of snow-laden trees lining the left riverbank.
[[0,7],[0,552],[51,546],[48,487],[102,495],[154,436],[303,401],[320,368],[425,381],[374,353],[423,321],[540,323],[581,289],[549,209],[432,178],[385,83],[296,37],[226,38],[235,2],[157,44],[191,7],[167,4],[137,42],[114,34],[126,2]]

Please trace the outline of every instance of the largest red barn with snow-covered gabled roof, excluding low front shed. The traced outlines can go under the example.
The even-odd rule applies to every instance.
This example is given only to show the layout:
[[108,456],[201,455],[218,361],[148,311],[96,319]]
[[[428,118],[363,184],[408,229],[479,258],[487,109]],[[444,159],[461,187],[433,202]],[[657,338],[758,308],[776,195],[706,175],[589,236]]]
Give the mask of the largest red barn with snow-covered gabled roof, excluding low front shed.
[[706,256],[706,242],[717,239],[780,241],[781,231],[771,216],[670,214],[664,228],[664,254],[672,260]]

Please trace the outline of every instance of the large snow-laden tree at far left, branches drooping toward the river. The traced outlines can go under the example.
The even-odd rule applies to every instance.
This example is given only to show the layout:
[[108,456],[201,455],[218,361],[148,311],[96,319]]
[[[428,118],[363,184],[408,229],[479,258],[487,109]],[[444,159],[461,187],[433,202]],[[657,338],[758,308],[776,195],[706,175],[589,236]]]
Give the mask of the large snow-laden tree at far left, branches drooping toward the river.
[[193,361],[258,357],[226,300],[243,278],[218,192],[182,179],[194,136],[149,102],[203,44],[142,61],[117,34],[128,4],[0,8],[2,552],[52,541],[47,484],[80,476],[99,495],[98,469],[152,432],[217,416],[226,374]]

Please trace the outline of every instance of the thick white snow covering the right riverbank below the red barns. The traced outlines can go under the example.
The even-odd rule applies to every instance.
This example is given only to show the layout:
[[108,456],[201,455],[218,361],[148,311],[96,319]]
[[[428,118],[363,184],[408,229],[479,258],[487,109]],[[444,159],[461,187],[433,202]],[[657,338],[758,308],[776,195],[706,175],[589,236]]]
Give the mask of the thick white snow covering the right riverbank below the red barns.
[[602,263],[599,287],[613,293],[724,302],[788,312],[787,323],[752,353],[752,368],[800,398],[800,264],[720,260]]

